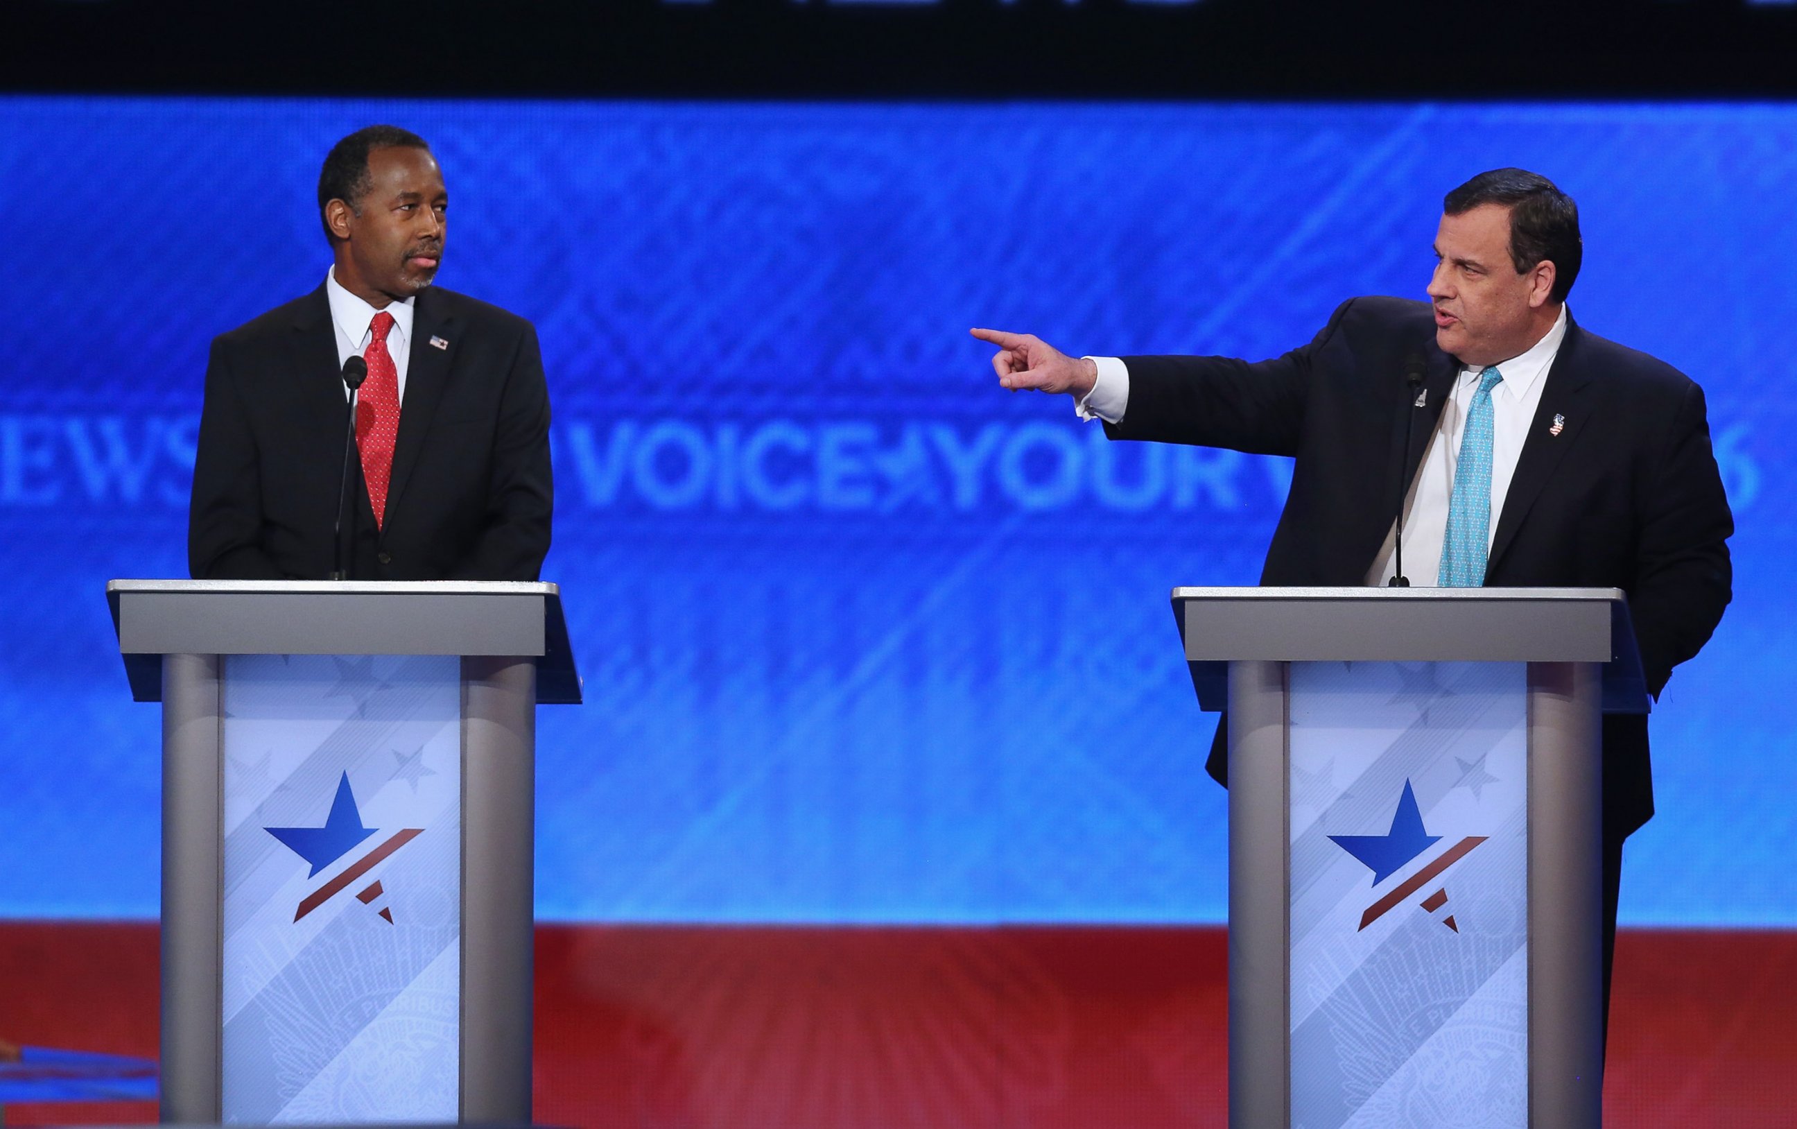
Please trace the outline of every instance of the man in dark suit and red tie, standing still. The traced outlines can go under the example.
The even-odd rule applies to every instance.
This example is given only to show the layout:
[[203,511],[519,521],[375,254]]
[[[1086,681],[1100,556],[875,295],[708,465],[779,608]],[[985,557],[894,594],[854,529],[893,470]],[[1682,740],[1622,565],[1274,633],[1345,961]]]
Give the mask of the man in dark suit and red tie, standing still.
[[[189,512],[210,579],[534,581],[550,547],[536,329],[433,288],[449,198],[424,140],[370,126],[318,178],[325,284],[212,342]],[[345,471],[361,356],[359,458]],[[349,475],[350,505],[338,514]]]

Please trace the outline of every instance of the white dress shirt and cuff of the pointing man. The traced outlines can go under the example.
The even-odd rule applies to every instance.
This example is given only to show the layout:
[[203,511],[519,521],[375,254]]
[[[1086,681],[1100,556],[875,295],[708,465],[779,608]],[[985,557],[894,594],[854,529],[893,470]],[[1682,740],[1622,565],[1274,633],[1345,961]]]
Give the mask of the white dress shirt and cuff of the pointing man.
[[[1535,408],[1542,401],[1547,369],[1560,354],[1560,342],[1565,336],[1567,311],[1562,306],[1560,318],[1554,320],[1547,336],[1527,352],[1497,363],[1504,379],[1492,388],[1492,529],[1486,530],[1486,545],[1497,532],[1497,520],[1504,512],[1504,498],[1509,494],[1509,480],[1522,457],[1522,442],[1527,439],[1529,424],[1535,422]],[[1129,365],[1114,356],[1094,356],[1091,361],[1098,367],[1098,383],[1075,404],[1075,412],[1080,419],[1118,422],[1129,408]],[[1454,496],[1454,467],[1459,464],[1466,412],[1479,390],[1481,372],[1483,369],[1461,367],[1459,379],[1454,381],[1454,394],[1441,406],[1441,417],[1423,449],[1421,467],[1403,500],[1403,572],[1418,588],[1434,588],[1439,579],[1448,500]],[[1366,573],[1368,584],[1384,584],[1391,579],[1394,532],[1396,523],[1373,557],[1373,566]]]

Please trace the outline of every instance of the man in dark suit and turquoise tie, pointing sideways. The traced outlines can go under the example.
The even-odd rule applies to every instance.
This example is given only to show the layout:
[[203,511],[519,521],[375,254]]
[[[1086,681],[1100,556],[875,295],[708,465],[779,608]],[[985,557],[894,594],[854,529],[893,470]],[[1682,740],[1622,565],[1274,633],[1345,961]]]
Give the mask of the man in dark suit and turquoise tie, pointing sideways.
[[[1353,298],[1270,361],[1069,358],[1026,334],[974,336],[999,345],[1003,387],[1069,392],[1111,439],[1294,457],[1261,584],[1385,582],[1402,503],[1420,584],[1626,591],[1659,696],[1729,604],[1734,523],[1704,392],[1567,313],[1580,252],[1572,200],[1499,169],[1448,192],[1430,304]],[[1227,784],[1220,737],[1208,768]],[[1623,840],[1653,814],[1646,717],[1605,717],[1603,768],[1608,998]]]

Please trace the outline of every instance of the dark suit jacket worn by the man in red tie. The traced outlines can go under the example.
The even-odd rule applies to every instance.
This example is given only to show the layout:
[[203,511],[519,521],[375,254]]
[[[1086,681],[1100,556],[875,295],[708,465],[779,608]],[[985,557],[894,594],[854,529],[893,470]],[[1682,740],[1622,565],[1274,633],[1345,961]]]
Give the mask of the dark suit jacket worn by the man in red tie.
[[[212,342],[189,511],[194,577],[331,573],[347,422],[340,372],[323,286]],[[550,547],[548,426],[530,322],[420,291],[379,532],[359,464],[350,471],[349,575],[537,579]]]

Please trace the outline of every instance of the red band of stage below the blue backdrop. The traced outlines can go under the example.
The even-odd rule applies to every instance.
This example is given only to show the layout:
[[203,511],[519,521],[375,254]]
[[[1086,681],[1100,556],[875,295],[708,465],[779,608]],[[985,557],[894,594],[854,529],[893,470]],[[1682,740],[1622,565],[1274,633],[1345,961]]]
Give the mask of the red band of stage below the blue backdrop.
[[[1797,933],[1624,929],[1607,1124],[1797,1125]],[[1224,1125],[1224,933],[537,929],[537,1120]],[[0,922],[0,1041],[156,1053],[156,928]],[[7,1125],[151,1122],[9,1106]]]

